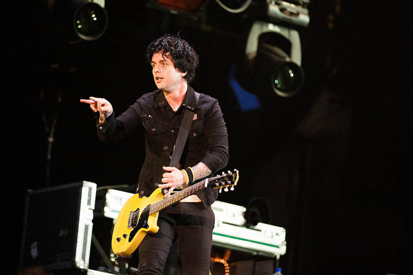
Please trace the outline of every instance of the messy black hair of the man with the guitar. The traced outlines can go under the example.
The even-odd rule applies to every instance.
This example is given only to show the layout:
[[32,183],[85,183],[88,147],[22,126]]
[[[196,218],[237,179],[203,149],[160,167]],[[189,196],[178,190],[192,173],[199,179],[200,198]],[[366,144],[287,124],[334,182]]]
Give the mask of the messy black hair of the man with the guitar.
[[193,48],[178,36],[164,35],[149,44],[146,58],[151,64],[152,56],[162,52],[164,58],[170,58],[175,68],[180,72],[187,72],[184,79],[190,83],[195,78],[195,69],[198,67],[198,54]]

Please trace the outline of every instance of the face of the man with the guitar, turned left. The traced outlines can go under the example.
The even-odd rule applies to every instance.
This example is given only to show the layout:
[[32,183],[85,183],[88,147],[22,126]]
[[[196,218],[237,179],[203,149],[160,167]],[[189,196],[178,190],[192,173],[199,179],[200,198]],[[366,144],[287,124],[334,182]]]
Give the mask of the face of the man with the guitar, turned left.
[[180,72],[175,68],[172,60],[165,56],[162,56],[162,52],[154,53],[152,56],[152,74],[154,75],[155,84],[158,89],[169,93],[177,89],[185,79],[186,72]]

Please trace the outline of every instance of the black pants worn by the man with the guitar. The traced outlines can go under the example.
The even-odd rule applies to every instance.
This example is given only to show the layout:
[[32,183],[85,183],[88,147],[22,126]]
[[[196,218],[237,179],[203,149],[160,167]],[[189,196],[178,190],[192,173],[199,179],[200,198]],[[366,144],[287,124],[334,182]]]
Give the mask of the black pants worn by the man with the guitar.
[[159,231],[148,234],[139,246],[137,274],[160,275],[171,245],[176,241],[182,273],[209,274],[215,216],[202,203],[177,203],[159,213]]

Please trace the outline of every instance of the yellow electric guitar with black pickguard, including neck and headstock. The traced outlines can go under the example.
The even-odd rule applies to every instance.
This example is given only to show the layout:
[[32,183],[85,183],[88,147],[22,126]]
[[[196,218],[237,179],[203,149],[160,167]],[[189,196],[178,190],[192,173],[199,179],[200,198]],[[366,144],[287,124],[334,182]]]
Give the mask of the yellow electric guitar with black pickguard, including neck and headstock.
[[162,209],[204,188],[225,188],[227,191],[228,187],[231,187],[233,190],[234,186],[237,185],[238,178],[238,170],[234,170],[206,178],[167,198],[164,198],[160,188],[149,197],[139,198],[138,194],[133,195],[123,205],[116,219],[112,233],[113,252],[118,256],[127,257],[136,250],[147,233],[158,232],[158,215]]

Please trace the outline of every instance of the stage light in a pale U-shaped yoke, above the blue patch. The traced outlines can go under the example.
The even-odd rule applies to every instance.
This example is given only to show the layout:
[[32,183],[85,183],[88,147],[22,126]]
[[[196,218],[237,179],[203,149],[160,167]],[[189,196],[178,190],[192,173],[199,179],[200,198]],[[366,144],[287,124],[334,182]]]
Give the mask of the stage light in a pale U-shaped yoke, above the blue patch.
[[297,30],[256,21],[245,47],[241,84],[251,93],[272,90],[280,97],[292,97],[304,83],[301,42]]

